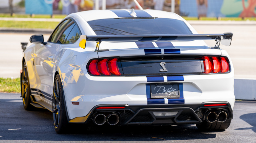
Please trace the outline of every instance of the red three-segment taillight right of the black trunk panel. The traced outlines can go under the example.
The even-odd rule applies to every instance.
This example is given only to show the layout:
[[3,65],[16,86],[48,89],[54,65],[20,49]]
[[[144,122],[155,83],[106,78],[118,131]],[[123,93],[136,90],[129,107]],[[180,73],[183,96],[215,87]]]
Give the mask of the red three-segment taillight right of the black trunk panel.
[[219,73],[229,71],[229,63],[226,57],[203,57],[204,73]]

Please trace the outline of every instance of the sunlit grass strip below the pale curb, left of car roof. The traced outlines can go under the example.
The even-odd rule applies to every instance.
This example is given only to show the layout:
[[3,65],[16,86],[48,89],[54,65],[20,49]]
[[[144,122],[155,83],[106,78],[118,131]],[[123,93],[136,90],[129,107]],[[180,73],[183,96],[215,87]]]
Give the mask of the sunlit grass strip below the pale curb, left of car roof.
[[0,27],[6,28],[44,28],[54,29],[59,22],[40,21],[0,21]]

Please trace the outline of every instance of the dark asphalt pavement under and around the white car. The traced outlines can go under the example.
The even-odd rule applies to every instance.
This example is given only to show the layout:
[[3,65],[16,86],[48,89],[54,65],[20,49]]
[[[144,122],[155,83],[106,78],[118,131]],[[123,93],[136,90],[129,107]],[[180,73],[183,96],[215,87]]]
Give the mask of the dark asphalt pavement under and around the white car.
[[221,132],[200,132],[195,125],[110,126],[74,125],[69,135],[56,134],[52,113],[23,108],[20,94],[0,93],[0,143],[50,142],[256,142],[256,102],[236,101],[231,125]]

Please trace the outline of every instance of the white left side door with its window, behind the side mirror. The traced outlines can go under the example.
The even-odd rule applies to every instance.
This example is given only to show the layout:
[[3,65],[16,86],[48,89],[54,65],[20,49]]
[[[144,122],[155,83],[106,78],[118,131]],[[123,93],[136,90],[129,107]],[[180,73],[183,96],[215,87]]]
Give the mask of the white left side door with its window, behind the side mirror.
[[53,31],[46,44],[37,44],[34,50],[34,67],[37,85],[35,86],[41,99],[51,104],[53,94],[53,68],[56,53],[63,47],[75,23],[67,19]]

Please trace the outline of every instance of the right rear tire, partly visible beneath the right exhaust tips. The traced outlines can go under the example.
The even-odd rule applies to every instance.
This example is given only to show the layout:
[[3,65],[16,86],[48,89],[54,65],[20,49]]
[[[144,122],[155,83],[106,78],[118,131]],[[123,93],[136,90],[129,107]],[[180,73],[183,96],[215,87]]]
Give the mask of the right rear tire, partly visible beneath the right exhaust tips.
[[223,123],[217,121],[209,123],[204,120],[201,124],[196,124],[196,126],[201,131],[223,131],[229,127],[230,123],[231,119],[227,119]]

